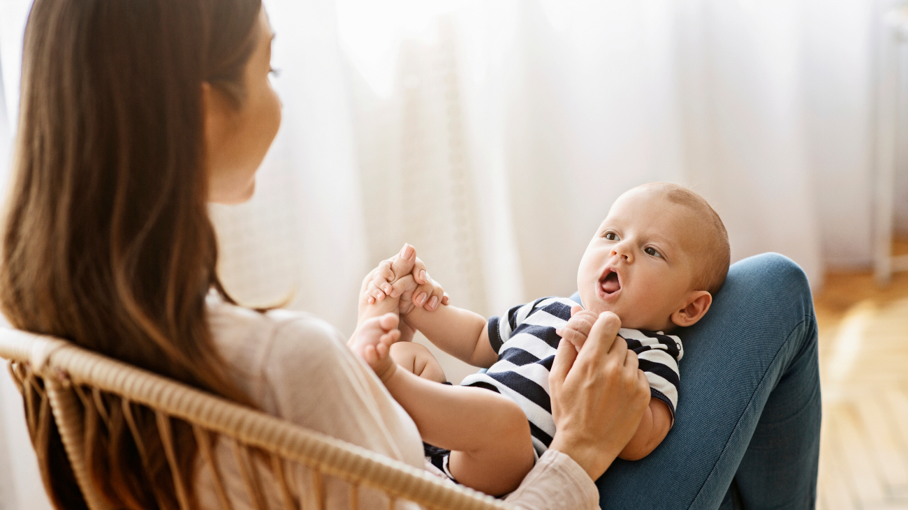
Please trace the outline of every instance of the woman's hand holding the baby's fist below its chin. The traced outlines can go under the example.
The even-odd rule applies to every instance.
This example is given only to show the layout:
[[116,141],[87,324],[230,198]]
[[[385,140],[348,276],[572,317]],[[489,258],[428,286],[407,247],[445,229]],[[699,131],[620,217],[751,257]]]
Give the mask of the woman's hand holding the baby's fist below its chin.
[[649,405],[649,383],[637,368],[637,354],[617,337],[621,320],[599,315],[577,348],[568,339],[548,375],[557,432],[550,449],[573,458],[596,480],[637,431]]

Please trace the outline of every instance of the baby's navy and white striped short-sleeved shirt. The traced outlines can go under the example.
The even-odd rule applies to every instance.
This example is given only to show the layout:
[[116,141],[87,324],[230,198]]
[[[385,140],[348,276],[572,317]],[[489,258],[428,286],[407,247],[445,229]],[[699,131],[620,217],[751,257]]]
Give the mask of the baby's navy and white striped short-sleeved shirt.
[[[489,343],[498,361],[486,373],[472,374],[460,383],[491,389],[517,402],[527,415],[533,447],[540,456],[555,436],[548,396],[548,371],[561,340],[555,330],[568,323],[574,306],[577,303],[567,298],[541,298],[489,319]],[[620,329],[618,335],[637,353],[652,397],[666,403],[674,421],[678,360],[684,356],[681,339],[637,329]]]

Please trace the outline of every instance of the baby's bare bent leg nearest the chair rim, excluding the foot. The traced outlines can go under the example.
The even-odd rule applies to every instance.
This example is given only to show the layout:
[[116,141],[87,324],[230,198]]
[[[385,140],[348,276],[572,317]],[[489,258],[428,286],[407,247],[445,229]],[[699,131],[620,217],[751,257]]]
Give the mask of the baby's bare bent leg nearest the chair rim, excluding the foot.
[[479,387],[440,385],[405,369],[385,386],[426,442],[451,450],[449,469],[459,483],[503,495],[532,469],[527,417],[508,397]]

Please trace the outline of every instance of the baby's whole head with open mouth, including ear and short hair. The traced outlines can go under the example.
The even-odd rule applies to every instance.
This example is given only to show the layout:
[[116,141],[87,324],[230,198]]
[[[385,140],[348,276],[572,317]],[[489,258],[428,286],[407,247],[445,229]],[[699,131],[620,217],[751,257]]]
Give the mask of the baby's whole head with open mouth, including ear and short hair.
[[612,204],[577,270],[584,306],[623,328],[668,331],[701,319],[731,259],[719,215],[694,191],[652,182]]

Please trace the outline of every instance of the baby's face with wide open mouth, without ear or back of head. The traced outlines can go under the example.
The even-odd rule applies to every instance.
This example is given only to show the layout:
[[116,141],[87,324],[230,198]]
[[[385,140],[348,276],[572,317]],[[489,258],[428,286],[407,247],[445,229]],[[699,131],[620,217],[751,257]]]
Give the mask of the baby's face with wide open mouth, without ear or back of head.
[[621,195],[577,270],[584,306],[615,312],[623,328],[666,330],[694,278],[696,218],[657,190]]

